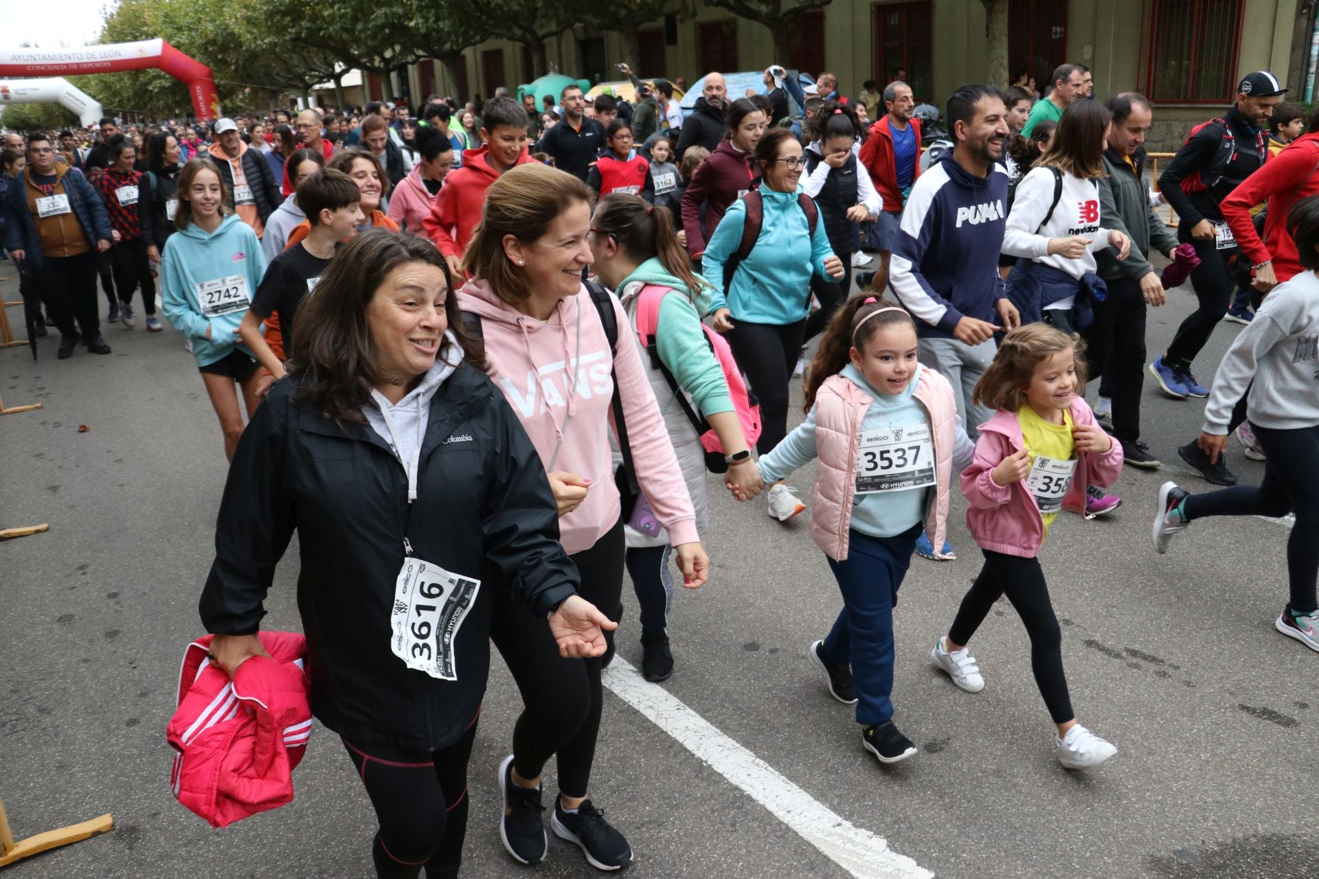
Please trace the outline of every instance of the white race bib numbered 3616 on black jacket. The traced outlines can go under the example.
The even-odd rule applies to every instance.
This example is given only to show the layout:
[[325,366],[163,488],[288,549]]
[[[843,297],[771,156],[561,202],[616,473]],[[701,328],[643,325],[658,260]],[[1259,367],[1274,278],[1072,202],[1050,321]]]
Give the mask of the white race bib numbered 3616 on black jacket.
[[458,680],[454,642],[480,589],[480,580],[450,573],[422,559],[404,557],[389,617],[389,648],[394,656],[431,677]]

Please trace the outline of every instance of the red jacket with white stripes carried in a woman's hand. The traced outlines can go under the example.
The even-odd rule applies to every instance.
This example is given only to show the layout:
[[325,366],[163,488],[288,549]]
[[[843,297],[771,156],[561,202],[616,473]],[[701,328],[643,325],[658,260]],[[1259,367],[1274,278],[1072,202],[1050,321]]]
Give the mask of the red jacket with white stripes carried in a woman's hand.
[[302,635],[260,633],[270,658],[244,662],[232,681],[207,658],[212,637],[183,652],[178,710],[166,731],[178,751],[174,796],[223,828],[293,800],[293,767],[306,752],[311,708]]

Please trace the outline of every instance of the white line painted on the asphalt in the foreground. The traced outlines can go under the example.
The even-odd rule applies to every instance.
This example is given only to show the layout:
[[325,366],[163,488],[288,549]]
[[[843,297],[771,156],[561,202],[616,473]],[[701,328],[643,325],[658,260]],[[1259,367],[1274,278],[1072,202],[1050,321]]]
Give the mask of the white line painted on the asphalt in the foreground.
[[856,879],[934,876],[893,851],[882,837],[844,821],[662,687],[644,679],[621,656],[616,655],[604,669],[604,685]]

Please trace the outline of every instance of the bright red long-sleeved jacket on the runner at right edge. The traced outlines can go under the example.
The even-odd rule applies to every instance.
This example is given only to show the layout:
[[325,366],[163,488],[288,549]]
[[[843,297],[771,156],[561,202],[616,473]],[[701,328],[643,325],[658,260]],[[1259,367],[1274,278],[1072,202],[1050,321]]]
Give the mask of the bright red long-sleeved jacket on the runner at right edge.
[[[1237,184],[1219,207],[1241,253],[1252,265],[1273,260],[1273,274],[1282,283],[1304,270],[1297,258],[1297,242],[1287,235],[1287,215],[1297,200],[1315,194],[1319,194],[1319,134],[1302,134]],[[1261,241],[1250,208],[1265,199],[1268,240]]]

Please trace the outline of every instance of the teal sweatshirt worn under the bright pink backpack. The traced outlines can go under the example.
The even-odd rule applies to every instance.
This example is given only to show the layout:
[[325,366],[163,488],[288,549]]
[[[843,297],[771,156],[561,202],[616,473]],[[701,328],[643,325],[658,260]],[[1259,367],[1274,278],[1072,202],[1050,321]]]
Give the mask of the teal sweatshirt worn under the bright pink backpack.
[[[698,275],[699,277],[699,275]],[[702,278],[703,279],[703,278]],[[628,290],[633,283],[652,283],[657,287],[671,287],[681,295],[666,295],[660,300],[660,320],[656,327],[656,353],[678,386],[687,391],[692,405],[707,418],[719,412],[733,411],[733,401],[728,395],[724,370],[715,358],[706,332],[700,328],[700,315],[710,307],[710,287],[702,287],[692,304],[687,285],[669,274],[658,257],[652,257],[629,274],[619,290]],[[661,399],[660,409],[666,410],[673,399]]]

